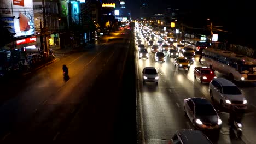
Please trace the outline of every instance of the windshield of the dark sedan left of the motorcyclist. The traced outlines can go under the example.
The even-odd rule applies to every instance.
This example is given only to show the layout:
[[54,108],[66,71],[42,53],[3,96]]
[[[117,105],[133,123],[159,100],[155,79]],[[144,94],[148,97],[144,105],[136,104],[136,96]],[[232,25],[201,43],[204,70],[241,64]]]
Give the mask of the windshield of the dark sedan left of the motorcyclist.
[[216,111],[214,110],[211,104],[200,104],[195,107],[196,115],[216,115]]

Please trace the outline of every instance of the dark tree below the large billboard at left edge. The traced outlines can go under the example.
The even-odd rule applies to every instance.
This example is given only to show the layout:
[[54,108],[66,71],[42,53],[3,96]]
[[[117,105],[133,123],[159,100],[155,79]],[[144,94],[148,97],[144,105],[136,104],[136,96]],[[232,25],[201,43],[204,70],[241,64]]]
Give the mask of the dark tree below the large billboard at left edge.
[[[0,19],[1,20],[1,19]],[[14,40],[14,35],[16,33],[11,33],[9,31],[10,27],[8,27],[8,23],[5,21],[0,21],[0,47],[5,46],[5,44],[10,43],[11,41]]]

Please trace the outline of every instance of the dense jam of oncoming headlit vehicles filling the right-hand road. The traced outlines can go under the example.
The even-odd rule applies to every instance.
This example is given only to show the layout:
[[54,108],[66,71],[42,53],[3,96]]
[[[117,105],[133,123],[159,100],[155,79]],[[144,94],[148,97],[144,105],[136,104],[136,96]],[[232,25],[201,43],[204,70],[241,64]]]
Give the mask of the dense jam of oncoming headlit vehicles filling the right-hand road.
[[[252,132],[255,125],[245,124],[245,122],[252,121],[253,111],[256,108],[253,103],[248,104],[250,103],[249,99],[252,99],[250,93],[255,92],[255,67],[248,67],[248,70],[251,70],[248,71],[248,75],[245,75],[247,73],[245,72],[237,78],[237,68],[235,67],[246,69],[247,65],[238,65],[237,63],[236,66],[235,64],[230,66],[228,59],[220,62],[218,57],[220,63],[226,64],[221,67],[225,67],[229,71],[228,74],[225,74],[222,68],[218,68],[220,66],[216,66],[217,63],[213,65],[207,62],[214,56],[207,59],[205,50],[212,48],[196,46],[177,39],[172,32],[158,31],[144,23],[136,23],[134,37],[137,77],[141,80],[138,82],[138,91],[140,91],[142,109],[140,115],[145,143],[156,141],[185,143],[182,139],[184,136],[190,142],[195,139],[204,141],[206,137],[210,141],[209,143],[253,143],[251,137],[255,135]],[[222,55],[225,52],[213,53]],[[254,61],[243,58],[242,61]],[[231,62],[231,60],[229,61]],[[229,66],[236,70],[228,68]],[[179,87],[180,84],[185,89]],[[176,88],[181,89],[177,90]],[[188,90],[190,88],[193,90]],[[167,94],[166,91],[172,94],[174,92],[174,95]],[[177,93],[177,91],[188,92]],[[189,95],[184,93],[189,93]],[[175,98],[173,99],[173,97]],[[167,101],[162,102],[162,99],[167,99],[167,101],[173,99],[173,101],[167,103]],[[174,102],[176,100],[177,102]],[[175,109],[173,104],[177,105]],[[157,111],[156,107],[157,109],[161,107],[161,110]],[[162,109],[171,111],[165,113],[170,116],[161,118],[160,113],[165,111]],[[183,117],[170,118],[173,113],[176,115],[183,113]],[[245,116],[250,117],[244,118]],[[171,121],[169,121],[170,119]]]

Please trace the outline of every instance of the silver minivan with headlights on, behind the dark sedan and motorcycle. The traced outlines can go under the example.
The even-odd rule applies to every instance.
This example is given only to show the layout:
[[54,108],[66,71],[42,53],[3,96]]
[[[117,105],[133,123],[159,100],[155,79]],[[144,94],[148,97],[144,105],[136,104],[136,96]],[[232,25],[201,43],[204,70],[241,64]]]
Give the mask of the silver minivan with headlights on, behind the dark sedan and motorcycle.
[[230,109],[237,106],[240,109],[247,109],[247,100],[240,89],[231,81],[218,77],[209,83],[208,91],[212,101],[217,101],[223,109]]

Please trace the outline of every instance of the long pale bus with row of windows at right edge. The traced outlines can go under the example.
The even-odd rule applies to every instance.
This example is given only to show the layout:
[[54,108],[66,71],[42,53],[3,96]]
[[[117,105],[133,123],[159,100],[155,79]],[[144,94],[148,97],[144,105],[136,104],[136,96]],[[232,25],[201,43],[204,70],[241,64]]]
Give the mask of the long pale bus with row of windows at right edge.
[[203,49],[201,63],[228,76],[229,80],[256,81],[256,59],[221,49]]

